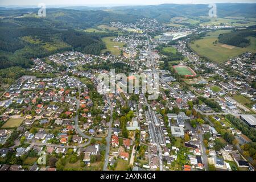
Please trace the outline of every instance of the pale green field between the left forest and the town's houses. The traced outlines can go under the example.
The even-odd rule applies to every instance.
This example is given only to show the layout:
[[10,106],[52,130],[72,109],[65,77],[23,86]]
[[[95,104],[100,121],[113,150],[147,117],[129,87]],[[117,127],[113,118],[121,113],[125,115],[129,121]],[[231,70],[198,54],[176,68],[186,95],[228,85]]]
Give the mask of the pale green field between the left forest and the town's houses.
[[[121,51],[119,48],[122,48],[125,43],[122,42],[113,42],[114,36],[108,36],[106,38],[102,38],[102,41],[106,44],[106,48],[104,50],[101,50],[101,53],[104,53],[106,51],[110,51],[112,55],[120,55]],[[118,46],[118,47],[116,47]]]

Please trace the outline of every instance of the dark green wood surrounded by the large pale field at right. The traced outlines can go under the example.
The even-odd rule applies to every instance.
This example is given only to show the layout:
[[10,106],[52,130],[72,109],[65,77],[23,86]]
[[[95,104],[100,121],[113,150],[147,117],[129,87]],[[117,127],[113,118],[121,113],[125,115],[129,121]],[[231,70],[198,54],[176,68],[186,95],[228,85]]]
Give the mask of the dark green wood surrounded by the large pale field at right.
[[256,36],[252,30],[235,30],[218,36],[218,42],[236,47],[246,47],[250,45],[250,40],[245,39],[248,36]]

